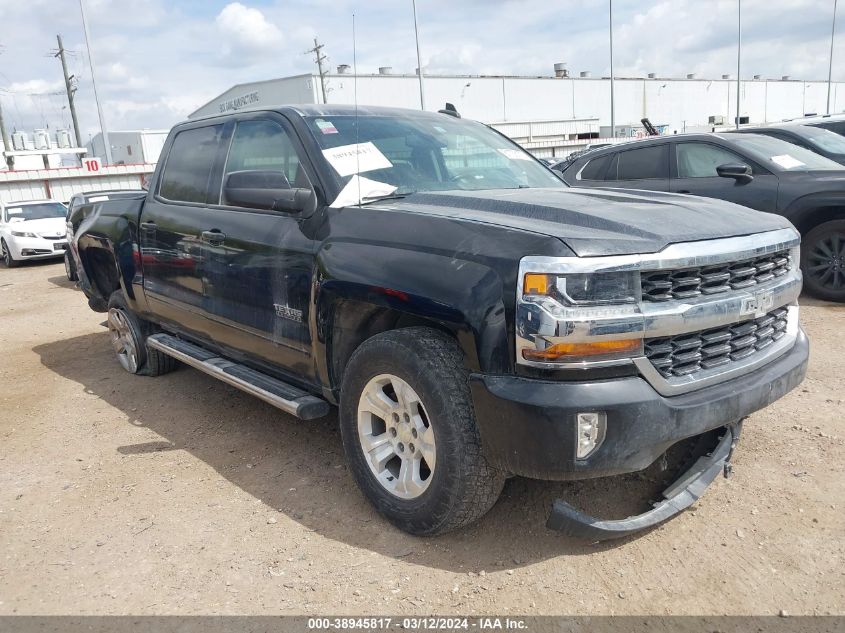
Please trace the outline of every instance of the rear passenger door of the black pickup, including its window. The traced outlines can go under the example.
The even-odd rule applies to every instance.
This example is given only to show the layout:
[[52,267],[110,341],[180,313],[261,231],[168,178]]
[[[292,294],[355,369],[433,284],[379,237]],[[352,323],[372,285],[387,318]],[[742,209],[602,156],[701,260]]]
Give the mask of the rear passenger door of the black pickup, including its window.
[[[203,331],[200,227],[225,126],[194,125],[176,133],[138,227],[144,294],[150,310],[182,328]],[[218,187],[219,188],[219,187]],[[218,192],[219,195],[219,192]]]

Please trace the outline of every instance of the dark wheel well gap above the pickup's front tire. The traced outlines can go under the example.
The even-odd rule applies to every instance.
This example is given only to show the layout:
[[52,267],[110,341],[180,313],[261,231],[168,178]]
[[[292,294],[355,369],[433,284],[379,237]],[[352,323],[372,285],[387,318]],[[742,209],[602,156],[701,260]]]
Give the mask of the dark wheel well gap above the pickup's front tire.
[[455,338],[455,333],[436,321],[358,301],[342,300],[334,310],[329,343],[329,372],[332,387],[340,389],[343,370],[353,352],[367,339],[406,327],[424,326]]

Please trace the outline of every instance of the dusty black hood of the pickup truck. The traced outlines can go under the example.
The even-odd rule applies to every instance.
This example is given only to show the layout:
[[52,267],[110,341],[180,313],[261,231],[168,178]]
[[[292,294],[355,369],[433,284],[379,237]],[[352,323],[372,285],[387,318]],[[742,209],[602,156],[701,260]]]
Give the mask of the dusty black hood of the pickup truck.
[[677,242],[791,226],[780,216],[722,200],[623,189],[426,192],[390,201],[390,207],[542,233],[579,257],[655,253]]

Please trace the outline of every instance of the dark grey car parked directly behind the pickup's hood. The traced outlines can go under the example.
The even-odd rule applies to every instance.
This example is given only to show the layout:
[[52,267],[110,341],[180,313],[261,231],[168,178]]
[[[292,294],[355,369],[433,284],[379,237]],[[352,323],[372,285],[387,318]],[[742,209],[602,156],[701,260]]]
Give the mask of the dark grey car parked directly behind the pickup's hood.
[[845,170],[838,163],[761,134],[682,134],[596,150],[564,180],[719,198],[786,217],[803,237],[809,292],[845,301]]

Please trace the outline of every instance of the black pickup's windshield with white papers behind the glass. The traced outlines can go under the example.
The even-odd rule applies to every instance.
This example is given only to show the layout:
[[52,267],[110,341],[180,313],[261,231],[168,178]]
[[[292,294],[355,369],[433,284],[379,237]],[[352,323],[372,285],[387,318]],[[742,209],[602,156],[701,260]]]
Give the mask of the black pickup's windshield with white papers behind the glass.
[[426,114],[359,116],[357,126],[354,115],[306,121],[344,186],[356,173],[371,190],[391,195],[566,186],[528,152],[474,121]]

